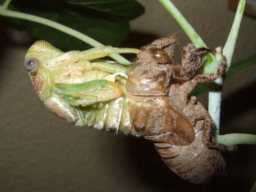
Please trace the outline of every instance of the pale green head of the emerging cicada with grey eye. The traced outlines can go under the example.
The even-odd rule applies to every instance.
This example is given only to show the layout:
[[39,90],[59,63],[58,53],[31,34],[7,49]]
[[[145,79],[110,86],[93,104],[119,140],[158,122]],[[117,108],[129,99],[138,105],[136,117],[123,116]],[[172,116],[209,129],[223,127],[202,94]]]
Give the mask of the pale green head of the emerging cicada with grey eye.
[[24,67],[29,72],[29,77],[40,99],[44,101],[51,95],[51,76],[47,69],[47,61],[61,50],[53,47],[46,41],[35,42],[28,50]]

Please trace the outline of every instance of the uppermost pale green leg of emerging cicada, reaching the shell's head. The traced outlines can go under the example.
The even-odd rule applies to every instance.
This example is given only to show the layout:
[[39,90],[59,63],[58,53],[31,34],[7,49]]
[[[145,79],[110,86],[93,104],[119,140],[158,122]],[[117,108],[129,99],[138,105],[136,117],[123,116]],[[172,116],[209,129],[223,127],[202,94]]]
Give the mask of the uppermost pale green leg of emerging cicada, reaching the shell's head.
[[111,46],[95,47],[86,51],[81,52],[81,58],[87,61],[93,59],[102,58],[112,53],[135,53],[138,54],[139,50],[134,48],[116,48]]

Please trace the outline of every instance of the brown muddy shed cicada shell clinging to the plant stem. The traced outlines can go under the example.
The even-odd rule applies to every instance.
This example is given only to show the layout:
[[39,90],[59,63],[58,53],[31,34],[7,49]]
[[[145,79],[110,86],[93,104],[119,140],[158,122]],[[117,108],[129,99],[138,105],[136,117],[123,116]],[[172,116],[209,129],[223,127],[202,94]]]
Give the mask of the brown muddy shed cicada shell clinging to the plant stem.
[[212,119],[189,93],[197,83],[214,81],[224,71],[222,56],[216,73],[198,75],[200,55],[212,52],[188,44],[181,64],[174,64],[174,36],[140,48],[126,83],[128,111],[135,130],[154,142],[166,165],[191,183],[209,183],[225,175],[226,163],[210,135]]

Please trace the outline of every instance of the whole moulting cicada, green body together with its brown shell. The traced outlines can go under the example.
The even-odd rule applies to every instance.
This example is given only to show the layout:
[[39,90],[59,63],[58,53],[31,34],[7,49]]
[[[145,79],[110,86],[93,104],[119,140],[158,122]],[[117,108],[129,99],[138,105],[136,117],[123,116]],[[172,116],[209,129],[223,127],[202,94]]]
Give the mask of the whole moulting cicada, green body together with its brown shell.
[[[225,161],[210,136],[212,119],[189,93],[198,82],[221,76],[198,75],[200,55],[183,48],[181,64],[173,62],[177,40],[161,38],[140,49],[97,47],[61,52],[46,41],[33,44],[24,61],[40,99],[56,116],[75,126],[143,136],[152,140],[166,165],[191,183],[208,183],[225,174]],[[135,53],[131,67],[100,58]]]

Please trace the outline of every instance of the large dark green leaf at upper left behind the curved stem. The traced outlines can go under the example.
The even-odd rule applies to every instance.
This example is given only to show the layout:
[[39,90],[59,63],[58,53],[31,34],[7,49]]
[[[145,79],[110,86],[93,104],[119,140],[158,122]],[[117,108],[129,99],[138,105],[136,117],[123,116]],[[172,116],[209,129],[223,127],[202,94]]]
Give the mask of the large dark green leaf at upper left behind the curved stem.
[[[143,7],[134,0],[124,0],[125,3],[123,3],[123,6],[118,0],[116,1],[119,12],[121,12],[121,10],[124,12],[124,10],[127,9],[126,12],[131,13],[129,17],[136,17],[143,13]],[[3,3],[4,0],[0,0],[0,2]],[[72,0],[72,2],[83,3],[86,1]],[[107,10],[110,9],[106,0],[93,2],[98,2],[96,7],[100,7],[101,9],[99,10],[102,12],[107,12]],[[110,2],[112,6],[115,6],[114,0],[113,2],[110,0]],[[128,6],[128,3],[131,3],[132,6]],[[102,44],[111,45],[113,47],[119,46],[122,40],[128,36],[129,17],[123,17],[122,20],[120,20],[119,15],[114,15],[114,17],[113,15],[111,17],[100,17],[99,10],[89,13],[87,7],[79,5],[73,6],[64,0],[44,0],[37,1],[36,3],[34,0],[12,0],[9,9],[53,20],[88,35]],[[137,11],[134,12],[134,10],[128,9],[135,9]],[[49,41],[55,47],[66,48],[68,50],[85,50],[91,48],[90,45],[81,40],[49,26],[15,18],[6,19],[8,19],[15,28],[31,33],[36,39]]]

